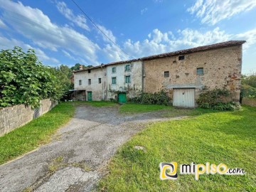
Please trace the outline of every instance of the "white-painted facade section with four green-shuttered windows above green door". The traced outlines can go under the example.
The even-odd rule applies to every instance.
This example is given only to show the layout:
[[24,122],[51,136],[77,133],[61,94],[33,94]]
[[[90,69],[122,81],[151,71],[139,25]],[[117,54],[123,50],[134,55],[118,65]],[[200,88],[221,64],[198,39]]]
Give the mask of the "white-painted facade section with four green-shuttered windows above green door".
[[[130,65],[130,71],[125,71],[125,65]],[[116,68],[116,73],[112,73],[112,68]],[[130,75],[131,82],[125,83],[125,76]],[[117,84],[112,85],[112,78],[117,78]],[[142,61],[132,63],[122,63],[107,66],[107,99],[114,98],[117,94],[114,91],[126,91],[127,97],[134,97],[142,91]],[[112,91],[110,91],[112,90]]]

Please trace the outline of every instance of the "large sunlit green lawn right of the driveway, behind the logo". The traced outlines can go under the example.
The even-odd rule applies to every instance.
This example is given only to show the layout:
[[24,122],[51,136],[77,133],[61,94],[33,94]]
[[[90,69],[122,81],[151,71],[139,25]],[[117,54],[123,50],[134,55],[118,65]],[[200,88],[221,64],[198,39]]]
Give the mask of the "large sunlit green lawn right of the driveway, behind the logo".
[[[99,191],[256,191],[256,107],[237,112],[196,111],[196,117],[150,124],[122,146]],[[134,149],[144,146],[145,151]],[[159,178],[159,163],[220,164],[243,176],[178,174]]]

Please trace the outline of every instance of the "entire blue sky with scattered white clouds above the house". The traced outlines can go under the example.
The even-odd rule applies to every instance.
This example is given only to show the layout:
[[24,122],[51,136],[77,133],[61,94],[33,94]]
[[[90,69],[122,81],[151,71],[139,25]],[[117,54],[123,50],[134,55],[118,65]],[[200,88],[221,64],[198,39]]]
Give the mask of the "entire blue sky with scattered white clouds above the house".
[[247,41],[242,73],[256,72],[256,0],[0,0],[0,49],[33,48],[44,65],[100,65],[230,40]]

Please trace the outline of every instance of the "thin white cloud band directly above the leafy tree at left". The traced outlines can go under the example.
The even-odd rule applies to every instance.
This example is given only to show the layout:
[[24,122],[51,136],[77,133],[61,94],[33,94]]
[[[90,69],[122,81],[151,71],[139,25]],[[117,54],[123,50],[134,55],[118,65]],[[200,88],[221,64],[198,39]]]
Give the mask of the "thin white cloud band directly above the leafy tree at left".
[[59,63],[59,61],[56,58],[50,58],[46,53],[43,52],[40,48],[33,48],[32,46],[23,43],[22,41],[18,41],[15,38],[6,38],[4,36],[1,36],[0,34],[0,49],[12,49],[14,46],[19,46],[23,48],[23,50],[33,49],[36,52],[36,55],[38,56],[39,60],[43,62],[53,62],[53,63]]

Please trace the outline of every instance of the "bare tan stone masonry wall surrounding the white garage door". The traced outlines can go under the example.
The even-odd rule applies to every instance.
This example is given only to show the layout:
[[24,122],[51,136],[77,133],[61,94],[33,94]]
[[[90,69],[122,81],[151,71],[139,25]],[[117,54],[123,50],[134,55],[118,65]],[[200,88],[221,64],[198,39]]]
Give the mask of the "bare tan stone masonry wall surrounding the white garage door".
[[[178,56],[144,60],[144,92],[166,90],[173,97],[174,88],[193,87],[198,98],[203,87],[226,88],[230,99],[239,102],[242,46],[188,53],[184,60]],[[203,68],[203,75],[197,75],[197,68]],[[169,71],[169,78],[164,78],[164,71]]]

